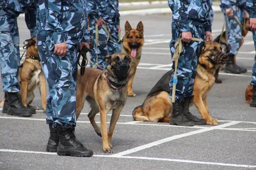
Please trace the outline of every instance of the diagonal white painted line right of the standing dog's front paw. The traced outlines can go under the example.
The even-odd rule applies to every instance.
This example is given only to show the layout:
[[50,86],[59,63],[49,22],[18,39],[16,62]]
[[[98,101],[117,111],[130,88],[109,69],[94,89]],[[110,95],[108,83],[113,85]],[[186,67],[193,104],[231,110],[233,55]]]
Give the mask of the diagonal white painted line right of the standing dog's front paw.
[[146,145],[141,145],[141,146],[138,146],[136,148],[132,148],[130,150],[125,150],[124,152],[116,153],[116,154],[114,154],[114,156],[129,155],[131,153],[138,152],[138,151],[141,151],[141,150],[145,150],[147,148],[151,148],[152,146],[161,145],[163,143],[170,142],[170,141],[173,141],[175,139],[180,139],[180,138],[184,138],[186,136],[191,136],[191,135],[194,135],[194,134],[200,134],[202,132],[208,132],[208,131],[212,131],[212,130],[220,128],[220,127],[228,127],[230,125],[236,125],[236,124],[239,124],[239,122],[236,122],[236,121],[229,122],[229,123],[223,124],[223,125],[216,125],[214,127],[209,127],[209,128],[205,128],[205,129],[199,129],[199,130],[196,130],[196,131],[192,131],[192,132],[187,132],[187,133],[184,133],[184,134],[179,134],[179,135],[171,136],[169,138],[164,138],[164,139],[161,139],[161,140],[158,140],[158,141],[154,141],[152,143],[148,143]]

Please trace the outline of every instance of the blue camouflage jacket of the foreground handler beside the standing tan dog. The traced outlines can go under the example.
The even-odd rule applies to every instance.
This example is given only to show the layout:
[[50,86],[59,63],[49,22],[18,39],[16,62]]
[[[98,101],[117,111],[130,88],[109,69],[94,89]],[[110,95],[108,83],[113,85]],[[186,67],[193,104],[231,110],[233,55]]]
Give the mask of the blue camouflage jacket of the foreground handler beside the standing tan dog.
[[88,3],[84,0],[38,0],[36,25],[38,41],[51,37],[53,44],[89,43]]

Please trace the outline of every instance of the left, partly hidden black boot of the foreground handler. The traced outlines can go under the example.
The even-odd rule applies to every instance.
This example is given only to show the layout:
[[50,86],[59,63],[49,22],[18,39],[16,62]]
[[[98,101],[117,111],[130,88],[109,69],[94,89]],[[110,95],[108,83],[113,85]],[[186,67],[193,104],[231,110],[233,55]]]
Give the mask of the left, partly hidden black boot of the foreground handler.
[[46,146],[47,152],[57,152],[57,148],[59,145],[60,138],[58,136],[57,127],[52,127],[52,124],[49,124],[50,129],[50,138],[48,139],[48,143]]

